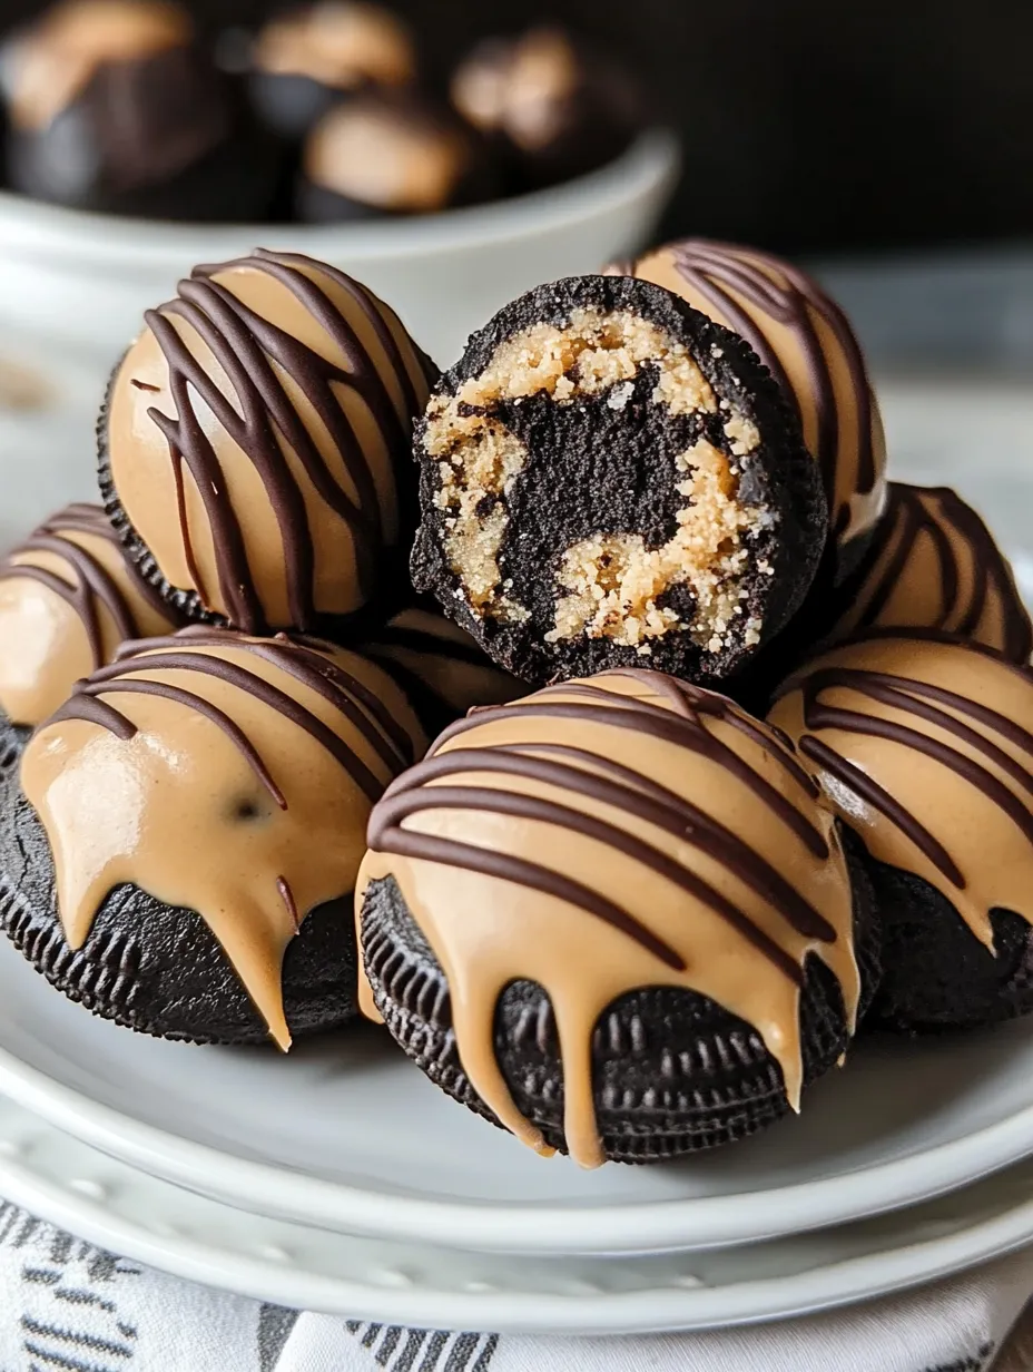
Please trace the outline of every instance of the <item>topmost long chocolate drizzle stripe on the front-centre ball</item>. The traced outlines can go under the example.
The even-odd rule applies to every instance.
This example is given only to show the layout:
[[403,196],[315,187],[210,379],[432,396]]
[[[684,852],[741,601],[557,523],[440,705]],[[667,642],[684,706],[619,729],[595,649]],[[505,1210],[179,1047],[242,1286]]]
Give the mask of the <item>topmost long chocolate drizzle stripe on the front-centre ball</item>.
[[[583,696],[593,702],[598,701],[599,704],[589,705],[578,704],[576,701],[554,701],[550,697],[556,694]],[[604,701],[609,701],[610,704],[604,704]],[[606,691],[598,686],[587,686],[579,682],[568,682],[561,686],[546,686],[545,690],[538,691],[534,697],[534,704],[517,702],[514,705],[499,705],[492,711],[460,719],[454,724],[450,724],[449,729],[439,735],[431,752],[439,752],[446,741],[455,738],[469,729],[477,729],[482,724],[491,723],[492,719],[516,719],[520,715],[530,715],[532,712],[538,718],[550,715],[557,719],[572,719],[583,723],[608,724],[615,729],[630,729],[652,738],[663,738],[667,742],[676,744],[679,748],[685,748],[700,756],[708,757],[728,770],[734,777],[737,777],[738,781],[749,786],[756,796],[763,799],[774,814],[778,815],[782,823],[785,823],[786,827],[797,836],[797,838],[811,853],[814,853],[815,858],[829,856],[829,845],[824,838],[804,816],[797,805],[794,805],[775,786],[772,786],[765,777],[753,771],[749,763],[744,761],[744,759],[739,757],[734,749],[722,744],[719,738],[711,734],[702,724],[698,715],[676,715],[660,705],[639,701],[631,696],[615,696],[612,691]],[[726,701],[724,697],[711,694],[705,698],[705,713],[711,715],[711,718],[731,720],[738,715],[738,711],[731,701]],[[765,737],[765,742],[772,757],[776,757],[783,764],[792,761],[793,767],[797,766],[792,759],[781,757],[770,738],[767,738],[767,735],[763,737]],[[794,775],[790,767],[786,767],[786,770],[790,771],[790,775]]]

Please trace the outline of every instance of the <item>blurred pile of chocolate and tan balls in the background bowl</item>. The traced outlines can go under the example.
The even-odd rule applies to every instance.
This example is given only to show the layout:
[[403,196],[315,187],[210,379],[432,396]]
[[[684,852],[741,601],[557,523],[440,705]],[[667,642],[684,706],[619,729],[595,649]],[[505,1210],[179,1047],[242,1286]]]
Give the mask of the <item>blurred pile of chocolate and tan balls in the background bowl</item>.
[[642,126],[628,77],[560,29],[457,54],[435,91],[364,0],[221,37],[180,0],[56,0],[4,56],[12,188],[150,218],[432,214],[582,176]]

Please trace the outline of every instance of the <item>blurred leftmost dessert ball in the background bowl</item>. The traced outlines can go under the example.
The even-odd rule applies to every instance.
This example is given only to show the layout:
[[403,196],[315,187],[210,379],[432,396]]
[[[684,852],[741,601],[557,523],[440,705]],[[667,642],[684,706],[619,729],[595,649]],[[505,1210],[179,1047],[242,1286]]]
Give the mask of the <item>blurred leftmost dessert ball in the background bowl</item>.
[[247,220],[273,173],[230,84],[167,0],[64,0],[5,54],[16,191],[106,213]]

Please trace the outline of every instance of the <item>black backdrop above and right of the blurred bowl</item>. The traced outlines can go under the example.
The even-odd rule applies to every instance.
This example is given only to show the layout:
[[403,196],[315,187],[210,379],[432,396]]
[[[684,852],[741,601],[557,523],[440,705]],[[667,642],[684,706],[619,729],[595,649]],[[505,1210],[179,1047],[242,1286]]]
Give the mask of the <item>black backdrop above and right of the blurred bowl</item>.
[[[12,22],[40,8],[0,0]],[[195,0],[207,26],[261,0]],[[1033,236],[1033,0],[398,0],[440,82],[476,36],[561,19],[685,140],[667,228],[792,251]]]

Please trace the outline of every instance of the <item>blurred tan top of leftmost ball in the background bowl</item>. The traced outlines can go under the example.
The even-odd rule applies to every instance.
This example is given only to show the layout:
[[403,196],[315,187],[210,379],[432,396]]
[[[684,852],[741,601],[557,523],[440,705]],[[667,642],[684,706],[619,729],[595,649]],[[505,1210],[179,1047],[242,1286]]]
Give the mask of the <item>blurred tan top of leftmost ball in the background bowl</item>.
[[11,122],[45,129],[106,63],[143,62],[192,41],[189,15],[162,0],[67,0],[16,37],[4,80]]

